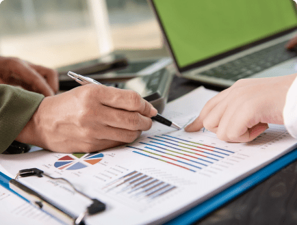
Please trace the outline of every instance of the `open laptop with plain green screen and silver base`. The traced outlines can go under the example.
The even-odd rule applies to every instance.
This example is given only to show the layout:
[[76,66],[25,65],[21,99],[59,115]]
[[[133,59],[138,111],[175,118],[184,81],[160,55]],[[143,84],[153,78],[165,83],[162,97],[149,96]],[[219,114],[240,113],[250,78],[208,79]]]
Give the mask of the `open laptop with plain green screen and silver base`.
[[293,0],[149,1],[181,77],[227,88],[297,72]]

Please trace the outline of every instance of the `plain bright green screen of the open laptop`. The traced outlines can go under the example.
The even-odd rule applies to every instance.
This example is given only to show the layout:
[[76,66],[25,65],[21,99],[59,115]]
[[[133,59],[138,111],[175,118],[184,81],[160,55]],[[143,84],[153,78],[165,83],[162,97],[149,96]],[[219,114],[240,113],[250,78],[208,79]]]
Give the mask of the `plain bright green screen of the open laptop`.
[[293,0],[153,0],[179,68],[297,25]]

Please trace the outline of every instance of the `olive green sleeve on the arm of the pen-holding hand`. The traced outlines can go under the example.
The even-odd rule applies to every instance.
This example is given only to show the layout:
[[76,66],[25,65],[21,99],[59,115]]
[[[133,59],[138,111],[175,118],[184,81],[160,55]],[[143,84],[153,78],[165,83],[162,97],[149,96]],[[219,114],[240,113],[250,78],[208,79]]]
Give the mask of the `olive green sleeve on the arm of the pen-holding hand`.
[[0,153],[16,139],[44,96],[0,84]]

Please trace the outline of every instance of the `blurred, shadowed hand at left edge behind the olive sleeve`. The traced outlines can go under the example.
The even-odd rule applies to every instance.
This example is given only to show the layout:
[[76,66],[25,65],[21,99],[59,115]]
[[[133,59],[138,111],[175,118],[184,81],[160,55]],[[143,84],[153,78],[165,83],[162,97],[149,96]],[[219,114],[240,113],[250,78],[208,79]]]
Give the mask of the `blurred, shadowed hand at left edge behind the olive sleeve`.
[[51,96],[59,89],[55,70],[25,62],[16,57],[0,56],[0,80],[2,83],[19,85],[25,90]]

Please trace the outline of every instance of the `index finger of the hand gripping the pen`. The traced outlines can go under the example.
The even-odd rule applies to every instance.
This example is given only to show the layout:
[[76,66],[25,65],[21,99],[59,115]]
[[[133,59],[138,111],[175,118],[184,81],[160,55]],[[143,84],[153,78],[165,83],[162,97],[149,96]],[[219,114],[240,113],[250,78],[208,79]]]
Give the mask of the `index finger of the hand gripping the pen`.
[[[155,109],[151,103],[145,101],[140,94],[132,90],[122,90],[102,85],[99,92],[101,92],[99,101],[103,105],[125,109],[127,111],[137,111],[143,116],[148,117],[157,115],[157,109]],[[102,98],[102,96],[104,97]]]

